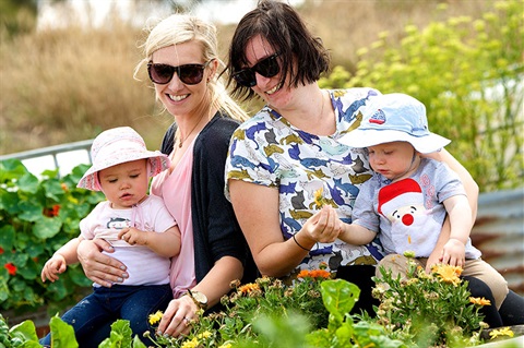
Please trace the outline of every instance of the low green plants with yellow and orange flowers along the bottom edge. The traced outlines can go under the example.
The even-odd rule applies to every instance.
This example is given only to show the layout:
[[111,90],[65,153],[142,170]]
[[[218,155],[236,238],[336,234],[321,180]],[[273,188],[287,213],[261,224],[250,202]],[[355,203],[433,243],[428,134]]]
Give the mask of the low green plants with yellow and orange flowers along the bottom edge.
[[[480,332],[487,325],[478,311],[489,301],[469,297],[460,274],[460,267],[449,265],[436,266],[431,274],[413,266],[408,278],[401,279],[382,269],[383,278],[376,279],[374,293],[381,300],[377,317],[349,314],[360,290],[346,280],[331,279],[326,271],[302,271],[291,285],[262,277],[252,284],[233,284],[231,293],[222,299],[223,310],[200,313],[188,336],[144,335],[157,347],[181,348],[473,347],[484,343]],[[160,317],[157,312],[148,321],[154,325]],[[70,325],[55,316],[50,328],[53,347],[76,347]],[[39,347],[31,321],[9,328],[0,317],[0,333],[4,337],[0,347]],[[513,333],[505,327],[491,336]],[[118,320],[99,347],[145,346],[133,336],[129,322]]]

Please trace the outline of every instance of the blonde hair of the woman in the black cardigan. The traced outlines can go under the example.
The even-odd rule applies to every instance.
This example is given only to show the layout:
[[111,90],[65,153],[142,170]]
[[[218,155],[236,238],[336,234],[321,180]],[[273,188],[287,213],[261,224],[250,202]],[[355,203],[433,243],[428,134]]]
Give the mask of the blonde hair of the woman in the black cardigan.
[[[224,68],[224,62],[218,58],[218,44],[216,37],[216,27],[189,14],[176,13],[162,20],[156,25],[146,24],[145,31],[148,33],[147,39],[141,46],[144,58],[134,69],[134,77],[142,65],[152,60],[153,52],[160,48],[179,45],[188,41],[196,41],[202,46],[202,56],[204,61],[216,59],[218,64]],[[221,74],[207,84],[210,93],[210,109],[216,108],[228,113],[233,119],[245,121],[249,118],[246,111],[229,96]]]

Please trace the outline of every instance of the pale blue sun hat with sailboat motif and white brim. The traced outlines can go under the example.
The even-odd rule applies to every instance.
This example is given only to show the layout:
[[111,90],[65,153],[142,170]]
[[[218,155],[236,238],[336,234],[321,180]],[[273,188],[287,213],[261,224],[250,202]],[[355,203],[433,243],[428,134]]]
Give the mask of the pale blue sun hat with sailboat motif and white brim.
[[424,104],[402,93],[373,97],[362,111],[360,125],[340,142],[352,147],[408,142],[421,154],[434,153],[451,143],[429,131]]

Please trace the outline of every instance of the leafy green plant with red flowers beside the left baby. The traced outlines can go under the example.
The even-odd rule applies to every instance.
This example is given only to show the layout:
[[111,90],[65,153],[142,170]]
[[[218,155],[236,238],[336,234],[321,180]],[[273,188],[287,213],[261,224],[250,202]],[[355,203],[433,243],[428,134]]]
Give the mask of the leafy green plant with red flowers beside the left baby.
[[86,168],[63,179],[48,170],[38,179],[17,159],[0,161],[0,310],[23,313],[46,304],[56,314],[90,287],[79,265],[55,283],[40,280],[45,262],[80,235],[80,220],[104,199],[76,189]]

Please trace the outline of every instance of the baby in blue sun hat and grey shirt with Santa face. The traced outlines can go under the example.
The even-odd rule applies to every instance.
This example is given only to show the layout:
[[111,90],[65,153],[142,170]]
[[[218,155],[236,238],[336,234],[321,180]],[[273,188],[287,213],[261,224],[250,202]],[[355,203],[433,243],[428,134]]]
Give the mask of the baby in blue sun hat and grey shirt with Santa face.
[[421,156],[450,143],[429,131],[424,104],[405,94],[378,96],[364,110],[359,128],[340,141],[366,147],[374,175],[361,185],[353,223],[338,238],[359,245],[379,236],[386,256],[379,262],[377,277],[380,266],[390,268],[394,277],[405,276],[403,254],[414,252],[426,267],[448,215],[451,233],[442,254],[463,268],[463,276],[485,281],[500,308],[508,283],[472,245],[473,214],[458,176],[444,163]]

